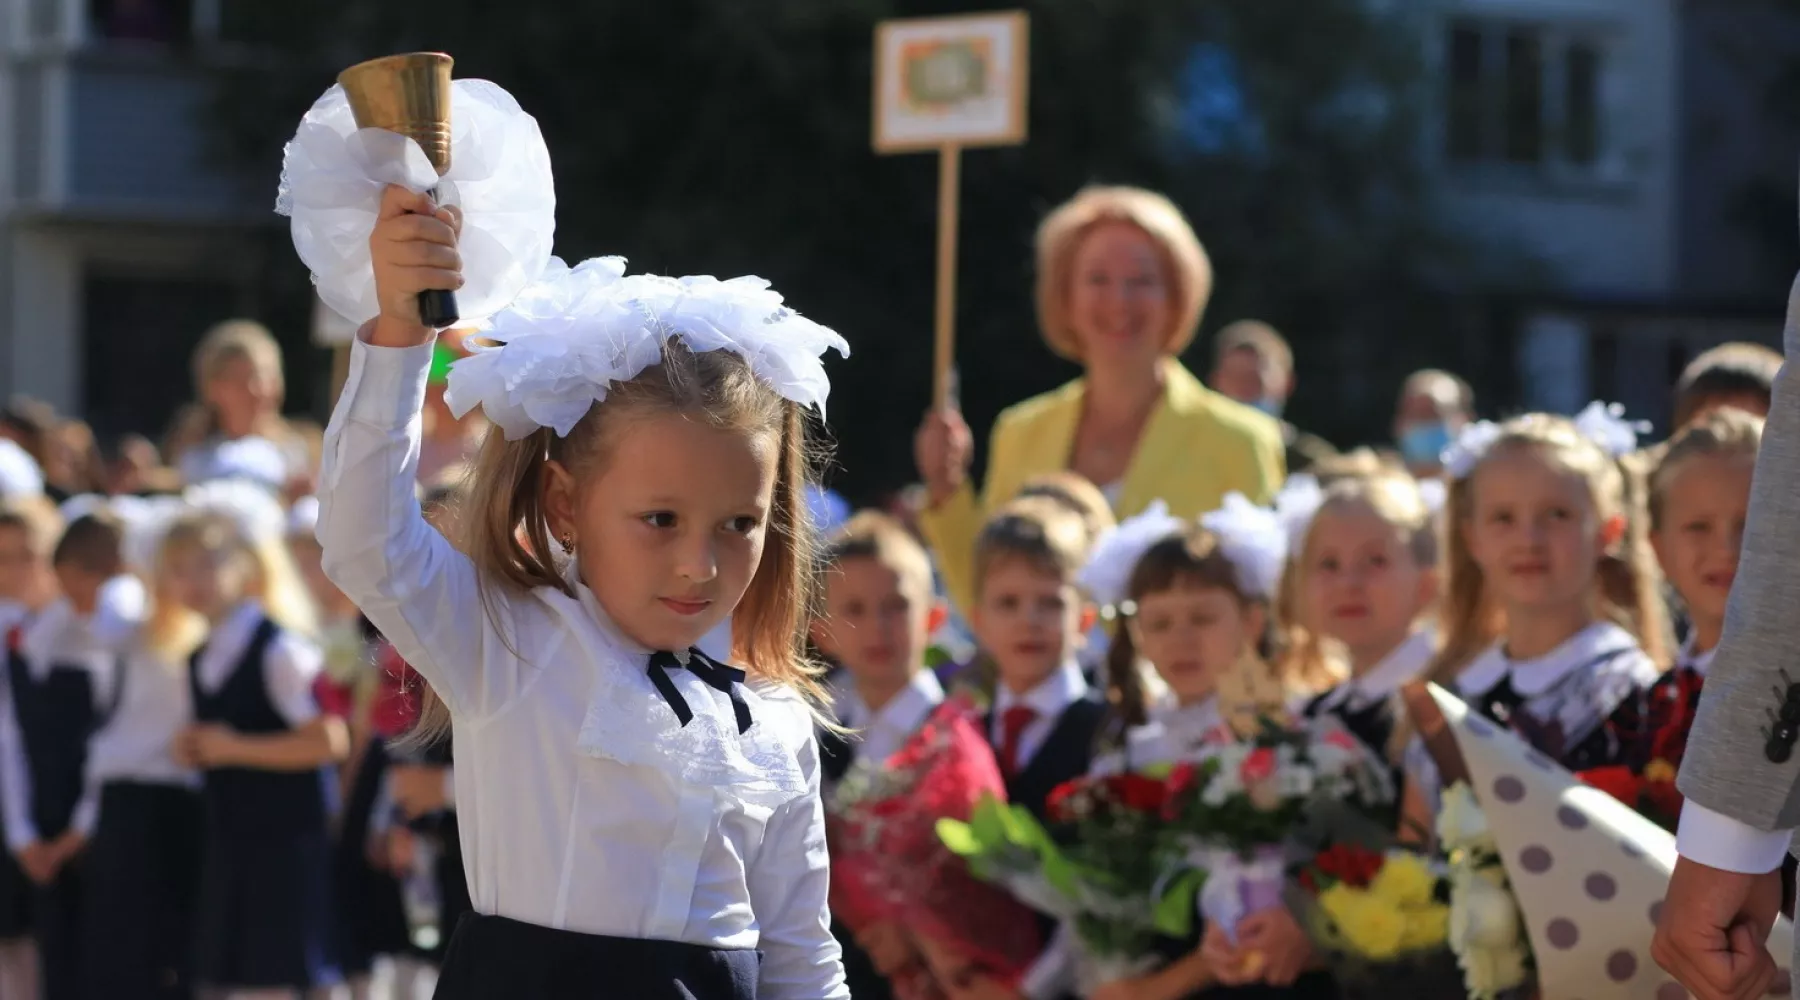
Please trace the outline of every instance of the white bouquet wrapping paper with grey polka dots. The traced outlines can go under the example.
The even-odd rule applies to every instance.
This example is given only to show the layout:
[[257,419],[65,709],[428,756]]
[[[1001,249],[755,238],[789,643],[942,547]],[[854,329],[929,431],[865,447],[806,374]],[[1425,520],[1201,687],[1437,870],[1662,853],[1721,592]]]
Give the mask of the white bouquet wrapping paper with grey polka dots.
[[[1651,960],[1651,937],[1676,863],[1672,835],[1526,746],[1433,685],[1469,784],[1499,847],[1537,960],[1543,1000],[1679,1000]],[[1793,924],[1769,950],[1787,989]]]

